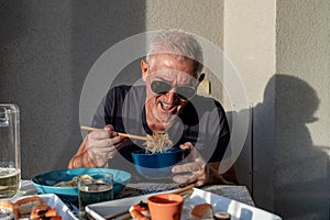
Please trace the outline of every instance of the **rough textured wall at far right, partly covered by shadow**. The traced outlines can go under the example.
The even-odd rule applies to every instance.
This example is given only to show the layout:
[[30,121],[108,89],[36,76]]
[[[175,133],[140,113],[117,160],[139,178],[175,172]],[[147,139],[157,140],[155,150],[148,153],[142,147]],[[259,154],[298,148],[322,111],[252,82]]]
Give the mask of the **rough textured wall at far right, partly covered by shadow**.
[[274,191],[286,219],[329,219],[329,0],[277,0]]

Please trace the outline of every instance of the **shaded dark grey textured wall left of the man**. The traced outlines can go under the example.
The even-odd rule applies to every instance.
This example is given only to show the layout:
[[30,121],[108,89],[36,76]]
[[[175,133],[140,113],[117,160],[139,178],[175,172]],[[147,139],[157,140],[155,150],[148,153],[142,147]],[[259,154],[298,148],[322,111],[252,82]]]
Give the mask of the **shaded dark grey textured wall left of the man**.
[[66,165],[81,142],[86,75],[111,45],[144,31],[144,1],[1,0],[0,102],[21,110],[22,177]]

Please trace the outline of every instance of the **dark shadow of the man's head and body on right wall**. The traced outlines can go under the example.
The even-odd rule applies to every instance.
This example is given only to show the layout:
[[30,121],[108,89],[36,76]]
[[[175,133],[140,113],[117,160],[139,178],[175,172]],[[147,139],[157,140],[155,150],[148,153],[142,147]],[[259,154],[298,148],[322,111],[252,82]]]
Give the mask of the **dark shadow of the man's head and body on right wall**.
[[[273,84],[276,94],[274,211],[284,219],[329,219],[328,155],[312,144],[307,127],[319,120],[314,114],[320,100],[297,77],[275,75],[268,81]],[[270,101],[272,91],[267,86],[264,102],[255,107],[255,117],[267,114]]]

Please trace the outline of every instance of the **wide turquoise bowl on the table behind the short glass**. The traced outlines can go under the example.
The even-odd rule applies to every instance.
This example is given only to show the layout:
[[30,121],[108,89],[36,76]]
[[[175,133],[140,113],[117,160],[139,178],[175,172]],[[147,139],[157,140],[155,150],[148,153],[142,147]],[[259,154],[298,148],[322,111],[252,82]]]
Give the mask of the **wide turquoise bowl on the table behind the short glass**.
[[131,180],[131,174],[109,168],[73,168],[52,170],[34,176],[31,180],[40,194],[56,194],[64,201],[78,200],[78,187],[54,187],[59,182],[72,180],[75,176],[92,172],[105,172],[113,175],[113,194],[117,195]]

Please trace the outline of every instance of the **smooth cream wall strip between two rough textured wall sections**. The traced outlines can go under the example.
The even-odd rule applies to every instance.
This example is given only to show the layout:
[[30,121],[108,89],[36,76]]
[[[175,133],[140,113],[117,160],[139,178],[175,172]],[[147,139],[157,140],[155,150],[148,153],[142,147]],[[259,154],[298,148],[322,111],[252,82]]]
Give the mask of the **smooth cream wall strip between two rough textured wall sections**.
[[253,197],[266,209],[273,209],[274,198],[275,84],[270,80],[276,64],[275,26],[274,0],[224,1],[224,53],[243,80],[253,111]]

